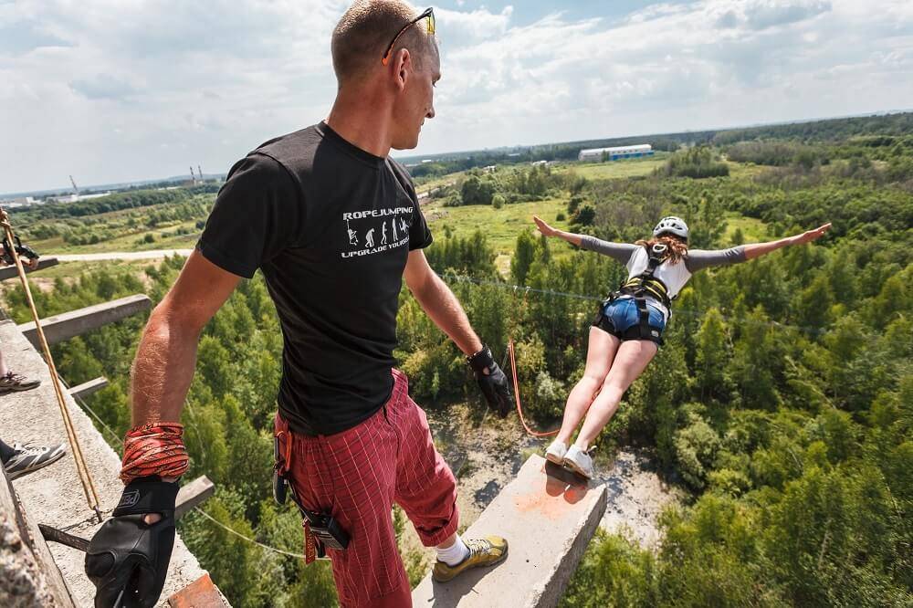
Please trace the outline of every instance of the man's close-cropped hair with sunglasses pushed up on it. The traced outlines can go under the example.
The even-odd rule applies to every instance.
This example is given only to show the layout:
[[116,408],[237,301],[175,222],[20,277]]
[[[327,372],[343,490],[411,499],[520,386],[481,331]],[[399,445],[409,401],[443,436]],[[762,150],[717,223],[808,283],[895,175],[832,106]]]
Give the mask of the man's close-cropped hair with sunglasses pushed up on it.
[[[333,30],[333,69],[340,85],[381,65],[387,45],[416,16],[415,8],[403,0],[356,0]],[[391,56],[408,48],[421,68],[422,59],[436,52],[434,39],[425,27],[425,20],[413,24],[396,41]]]

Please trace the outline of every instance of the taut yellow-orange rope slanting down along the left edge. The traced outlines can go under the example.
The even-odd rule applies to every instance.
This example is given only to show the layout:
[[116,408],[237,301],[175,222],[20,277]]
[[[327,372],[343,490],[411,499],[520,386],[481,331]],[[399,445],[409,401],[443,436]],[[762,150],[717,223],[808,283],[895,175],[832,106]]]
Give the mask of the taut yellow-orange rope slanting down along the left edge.
[[[92,479],[92,474],[89,471],[89,465],[86,464],[86,458],[82,455],[82,446],[79,445],[79,437],[76,435],[76,429],[73,426],[73,421],[69,416],[69,410],[67,408],[67,402],[63,396],[63,390],[60,388],[60,378],[58,377],[57,367],[54,365],[54,358],[51,356],[51,350],[47,346],[47,339],[45,338],[45,332],[41,328],[41,320],[38,319],[38,311],[35,308],[35,300],[32,299],[32,292],[28,288],[28,280],[26,279],[26,270],[22,267],[22,259],[19,257],[19,248],[22,247],[23,251],[30,252],[35,257],[37,254],[31,249],[22,246],[19,239],[13,234],[13,225],[10,224],[9,215],[6,214],[6,210],[0,207],[0,225],[3,225],[5,238],[4,238],[4,253],[9,254],[13,258],[13,263],[16,265],[16,270],[19,273],[19,280],[22,281],[22,288],[26,292],[26,301],[28,302],[28,308],[32,312],[32,319],[35,320],[35,330],[37,332],[38,341],[41,343],[41,350],[45,355],[45,362],[47,362],[47,367],[51,375],[51,384],[54,386],[54,393],[57,395],[58,406],[60,407],[60,415],[63,417],[64,429],[67,431],[67,441],[69,443],[70,451],[73,453],[73,460],[76,462],[76,471],[79,474],[79,482],[82,484],[82,491],[86,495],[86,501],[89,503],[89,508],[95,511],[96,517],[101,522],[101,509],[100,509],[100,500],[98,490],[95,488],[95,481]],[[8,246],[11,243],[16,243],[16,246]],[[28,253],[24,253],[28,256]]]

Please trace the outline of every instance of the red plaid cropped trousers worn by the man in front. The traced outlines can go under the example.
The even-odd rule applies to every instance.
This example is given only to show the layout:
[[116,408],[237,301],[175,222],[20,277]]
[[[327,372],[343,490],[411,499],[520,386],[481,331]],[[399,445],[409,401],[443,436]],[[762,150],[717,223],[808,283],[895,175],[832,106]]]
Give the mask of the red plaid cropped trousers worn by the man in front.
[[[305,508],[330,512],[349,532],[346,550],[327,550],[342,608],[403,608],[412,592],[396,547],[394,502],[426,547],[456,532],[456,479],[437,453],[425,412],[393,370],[390,400],[360,425],[336,435],[289,432],[276,415],[289,482]],[[283,432],[281,433],[280,432]],[[282,445],[291,439],[290,452]]]

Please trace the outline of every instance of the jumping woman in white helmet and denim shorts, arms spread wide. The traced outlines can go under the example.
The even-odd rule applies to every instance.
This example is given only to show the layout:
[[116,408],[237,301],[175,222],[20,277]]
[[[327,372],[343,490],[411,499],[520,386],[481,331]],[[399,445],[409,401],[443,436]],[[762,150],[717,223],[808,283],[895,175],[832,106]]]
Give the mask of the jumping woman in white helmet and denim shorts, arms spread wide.
[[[659,221],[653,238],[635,245],[563,232],[539,217],[533,219],[544,236],[557,236],[582,249],[612,257],[628,269],[627,280],[603,302],[593,321],[586,369],[568,395],[561,430],[545,451],[551,462],[568,466],[583,477],[593,477],[593,459],[588,454],[593,439],[612,419],[624,391],[656,355],[663,343],[672,300],[691,275],[702,268],[738,264],[785,246],[810,243],[831,227],[825,224],[770,243],[689,251],[687,225],[671,215]],[[580,434],[568,447],[581,420]]]

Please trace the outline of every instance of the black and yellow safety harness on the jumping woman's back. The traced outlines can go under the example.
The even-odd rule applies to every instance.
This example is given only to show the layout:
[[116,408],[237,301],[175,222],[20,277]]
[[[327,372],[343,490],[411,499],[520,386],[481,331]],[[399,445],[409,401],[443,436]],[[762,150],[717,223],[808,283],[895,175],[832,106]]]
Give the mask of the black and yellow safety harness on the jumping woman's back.
[[[621,287],[610,294],[607,299],[603,300],[599,305],[599,311],[596,313],[596,317],[593,320],[593,326],[618,336],[622,340],[648,340],[662,346],[662,330],[650,325],[650,310],[646,299],[653,298],[662,302],[663,306],[665,306],[666,310],[669,310],[669,314],[671,314],[672,300],[674,298],[669,298],[666,284],[655,276],[656,268],[666,261],[666,258],[669,255],[668,246],[662,243],[656,243],[653,246],[647,247],[647,255],[649,256],[649,259],[645,271],[636,277],[624,281]],[[615,329],[612,320],[605,314],[605,307],[623,296],[630,296],[634,299],[635,306],[637,307],[638,321],[627,330],[618,331]]]

